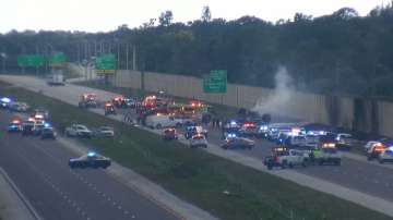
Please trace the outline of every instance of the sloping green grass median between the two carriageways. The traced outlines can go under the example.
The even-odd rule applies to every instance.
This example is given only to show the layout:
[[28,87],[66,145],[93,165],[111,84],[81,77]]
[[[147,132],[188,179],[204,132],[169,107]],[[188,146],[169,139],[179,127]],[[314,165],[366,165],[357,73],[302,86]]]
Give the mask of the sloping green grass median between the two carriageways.
[[73,122],[114,126],[114,139],[82,142],[222,219],[391,219],[36,93],[1,87],[0,95],[46,107],[59,131]]

